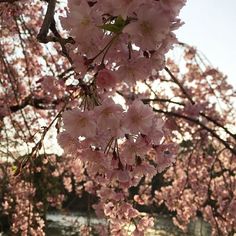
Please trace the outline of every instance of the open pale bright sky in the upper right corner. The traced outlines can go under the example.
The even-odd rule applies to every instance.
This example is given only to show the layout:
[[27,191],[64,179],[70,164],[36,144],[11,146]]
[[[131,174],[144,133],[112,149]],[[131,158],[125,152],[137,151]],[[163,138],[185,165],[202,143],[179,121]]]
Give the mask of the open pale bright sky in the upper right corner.
[[187,0],[180,18],[179,41],[196,46],[236,88],[236,0]]

